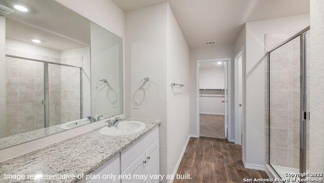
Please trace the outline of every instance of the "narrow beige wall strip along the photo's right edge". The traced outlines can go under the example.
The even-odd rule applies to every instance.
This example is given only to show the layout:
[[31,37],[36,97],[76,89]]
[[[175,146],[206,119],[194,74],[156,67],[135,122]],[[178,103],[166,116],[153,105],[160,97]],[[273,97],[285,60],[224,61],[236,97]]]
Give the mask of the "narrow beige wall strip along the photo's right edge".
[[324,172],[323,7],[324,1],[310,1],[310,172]]

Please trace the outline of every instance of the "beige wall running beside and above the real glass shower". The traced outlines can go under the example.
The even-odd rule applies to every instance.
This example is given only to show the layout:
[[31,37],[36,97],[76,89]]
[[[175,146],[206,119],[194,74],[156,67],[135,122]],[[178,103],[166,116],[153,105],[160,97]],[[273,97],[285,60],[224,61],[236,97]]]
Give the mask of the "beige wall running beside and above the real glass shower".
[[[309,15],[298,15],[246,23],[244,71],[243,159],[246,165],[263,169],[265,165],[265,48],[267,33],[302,30]],[[241,38],[241,37],[240,37]],[[241,38],[243,39],[243,38]],[[241,40],[240,39],[240,40]],[[236,44],[236,49],[239,45]]]

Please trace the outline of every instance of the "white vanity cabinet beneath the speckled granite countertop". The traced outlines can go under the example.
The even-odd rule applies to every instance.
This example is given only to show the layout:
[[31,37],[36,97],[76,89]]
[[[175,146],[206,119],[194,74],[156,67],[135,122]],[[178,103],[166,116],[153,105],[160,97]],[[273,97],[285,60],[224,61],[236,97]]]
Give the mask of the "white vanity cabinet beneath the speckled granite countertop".
[[[128,178],[116,179],[114,181],[92,179],[87,181],[81,180],[81,182],[158,182],[158,179],[150,179],[150,175],[159,174],[158,126],[96,169],[92,174],[99,174],[102,177],[111,173],[128,175]],[[134,179],[133,175],[147,175],[147,179]]]

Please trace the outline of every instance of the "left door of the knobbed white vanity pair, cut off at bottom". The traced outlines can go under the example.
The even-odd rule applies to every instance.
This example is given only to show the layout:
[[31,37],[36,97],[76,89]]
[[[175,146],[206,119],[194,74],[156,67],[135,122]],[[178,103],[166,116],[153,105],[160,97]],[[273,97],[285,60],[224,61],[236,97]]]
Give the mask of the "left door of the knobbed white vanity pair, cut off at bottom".
[[143,179],[134,179],[133,175],[143,175],[145,173],[145,153],[142,153],[132,164],[129,166],[123,173],[121,173],[124,176],[129,176],[130,178],[123,178],[121,179],[121,182],[130,182],[130,183],[136,183],[136,182],[144,182]]

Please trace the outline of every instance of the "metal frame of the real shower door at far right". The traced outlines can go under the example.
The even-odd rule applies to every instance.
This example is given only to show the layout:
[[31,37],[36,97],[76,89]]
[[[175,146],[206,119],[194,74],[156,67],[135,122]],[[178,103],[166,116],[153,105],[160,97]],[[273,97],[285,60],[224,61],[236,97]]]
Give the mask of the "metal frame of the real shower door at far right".
[[276,173],[278,177],[280,175],[276,172],[276,170],[270,164],[270,53],[274,50],[278,49],[282,45],[288,43],[289,41],[300,37],[300,149],[299,149],[299,172],[306,173],[306,123],[309,121],[309,111],[307,111],[307,95],[306,95],[306,32],[310,30],[310,26],[304,28],[300,32],[296,33],[289,39],[277,45],[275,48],[271,49],[266,53],[268,59],[268,96],[269,96],[269,105],[268,105],[268,122],[269,122],[269,157],[268,157],[268,165],[272,168],[272,170]]

